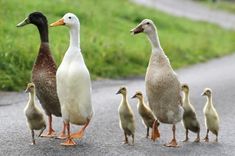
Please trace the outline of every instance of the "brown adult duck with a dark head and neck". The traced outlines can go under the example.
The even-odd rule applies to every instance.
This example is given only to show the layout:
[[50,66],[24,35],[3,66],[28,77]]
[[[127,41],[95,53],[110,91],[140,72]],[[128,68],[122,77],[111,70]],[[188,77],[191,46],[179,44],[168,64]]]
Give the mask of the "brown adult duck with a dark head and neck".
[[[51,54],[48,24],[46,16],[41,12],[32,12],[17,27],[33,24],[40,34],[40,48],[32,69],[32,82],[35,84],[36,96],[42,108],[48,116],[48,132],[42,134],[43,137],[55,137],[56,133],[52,127],[52,115],[61,117],[61,108],[56,91],[56,71],[57,66]],[[65,137],[65,123],[58,138]]]

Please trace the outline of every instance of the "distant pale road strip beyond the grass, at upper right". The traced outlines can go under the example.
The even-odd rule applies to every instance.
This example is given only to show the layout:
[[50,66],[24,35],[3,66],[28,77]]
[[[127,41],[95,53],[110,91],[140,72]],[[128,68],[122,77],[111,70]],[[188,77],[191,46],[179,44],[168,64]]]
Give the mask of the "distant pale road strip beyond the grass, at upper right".
[[[206,21],[223,28],[235,29],[235,15],[218,9],[210,9],[193,0],[132,0],[147,7],[156,8],[174,16]],[[215,4],[216,5],[216,4]]]

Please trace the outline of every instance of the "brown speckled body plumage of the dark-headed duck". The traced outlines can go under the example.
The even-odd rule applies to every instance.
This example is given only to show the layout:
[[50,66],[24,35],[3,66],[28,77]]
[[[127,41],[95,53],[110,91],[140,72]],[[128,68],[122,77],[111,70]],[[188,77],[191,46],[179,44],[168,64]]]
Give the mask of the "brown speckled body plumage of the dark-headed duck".
[[32,70],[32,81],[37,97],[47,115],[61,116],[60,103],[56,92],[56,64],[48,43],[41,43],[39,54]]

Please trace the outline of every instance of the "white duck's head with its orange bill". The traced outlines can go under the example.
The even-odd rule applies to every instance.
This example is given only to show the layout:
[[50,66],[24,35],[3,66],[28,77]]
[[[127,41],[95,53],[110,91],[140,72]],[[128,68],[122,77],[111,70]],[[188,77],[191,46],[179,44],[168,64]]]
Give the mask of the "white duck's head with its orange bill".
[[80,22],[76,15],[72,13],[67,13],[63,16],[63,18],[50,24],[51,27],[60,26],[60,25],[65,25],[68,27],[80,26]]

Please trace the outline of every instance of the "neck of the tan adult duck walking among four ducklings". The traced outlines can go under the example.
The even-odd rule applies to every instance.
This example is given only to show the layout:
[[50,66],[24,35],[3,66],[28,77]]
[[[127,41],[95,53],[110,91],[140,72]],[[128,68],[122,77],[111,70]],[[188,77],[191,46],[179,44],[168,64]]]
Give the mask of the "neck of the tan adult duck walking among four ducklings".
[[[159,37],[157,34],[157,30],[154,30],[152,32],[148,32],[147,36],[148,36],[148,39],[149,39],[151,46],[152,46],[152,52],[157,52],[157,51],[159,51],[159,49],[162,50],[162,47],[161,47],[160,41],[159,41]],[[158,50],[156,50],[156,49],[158,49]]]

